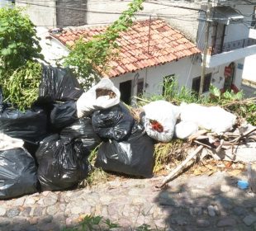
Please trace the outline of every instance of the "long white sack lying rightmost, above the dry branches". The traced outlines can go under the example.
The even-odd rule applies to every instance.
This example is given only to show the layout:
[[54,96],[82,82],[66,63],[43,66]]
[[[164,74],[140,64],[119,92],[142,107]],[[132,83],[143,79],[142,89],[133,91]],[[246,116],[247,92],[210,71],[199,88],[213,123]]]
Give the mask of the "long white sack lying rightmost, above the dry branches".
[[236,116],[220,106],[201,106],[195,103],[182,103],[180,106],[181,120],[194,122],[200,128],[211,130],[217,134],[231,130],[235,125]]

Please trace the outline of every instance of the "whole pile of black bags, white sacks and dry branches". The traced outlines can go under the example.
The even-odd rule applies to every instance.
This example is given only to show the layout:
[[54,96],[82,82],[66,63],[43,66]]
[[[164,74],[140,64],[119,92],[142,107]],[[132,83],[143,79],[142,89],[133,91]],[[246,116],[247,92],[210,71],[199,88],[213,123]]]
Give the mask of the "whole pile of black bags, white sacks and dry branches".
[[152,177],[156,142],[188,139],[199,145],[191,159],[203,148],[215,156],[226,145],[256,140],[254,127],[229,133],[236,117],[218,106],[153,101],[135,116],[111,80],[83,92],[67,68],[43,68],[29,110],[12,108],[0,95],[0,199],[77,186],[92,171],[88,158],[96,147],[96,167]]

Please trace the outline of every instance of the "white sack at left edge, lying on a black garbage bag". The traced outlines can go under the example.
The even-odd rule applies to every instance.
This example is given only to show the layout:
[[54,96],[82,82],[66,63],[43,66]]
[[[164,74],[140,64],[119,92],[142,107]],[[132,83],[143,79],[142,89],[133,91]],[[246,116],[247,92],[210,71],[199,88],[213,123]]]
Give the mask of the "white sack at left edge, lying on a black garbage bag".
[[23,144],[22,139],[12,138],[7,134],[0,133],[0,151],[22,148]]

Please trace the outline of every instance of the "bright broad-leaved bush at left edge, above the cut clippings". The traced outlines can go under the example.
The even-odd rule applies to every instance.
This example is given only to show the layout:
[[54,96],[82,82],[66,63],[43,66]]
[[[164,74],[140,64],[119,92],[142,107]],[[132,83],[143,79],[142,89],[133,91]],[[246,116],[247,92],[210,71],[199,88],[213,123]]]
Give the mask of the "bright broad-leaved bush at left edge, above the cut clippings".
[[0,77],[26,64],[43,58],[35,25],[21,8],[0,8]]

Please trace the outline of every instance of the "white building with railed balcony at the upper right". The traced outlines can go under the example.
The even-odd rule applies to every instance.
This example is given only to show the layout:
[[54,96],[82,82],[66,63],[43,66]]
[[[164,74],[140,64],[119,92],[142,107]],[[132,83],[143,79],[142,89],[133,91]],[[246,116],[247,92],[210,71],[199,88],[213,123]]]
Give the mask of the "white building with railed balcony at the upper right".
[[248,65],[249,57],[256,54],[255,30],[251,28],[254,5],[244,1],[219,1],[211,5],[207,21],[205,12],[201,12],[201,18],[197,36],[200,50],[204,50],[206,28],[209,28],[206,69],[214,69],[224,79],[224,89],[239,90],[244,73],[255,78],[255,67],[249,69]]

